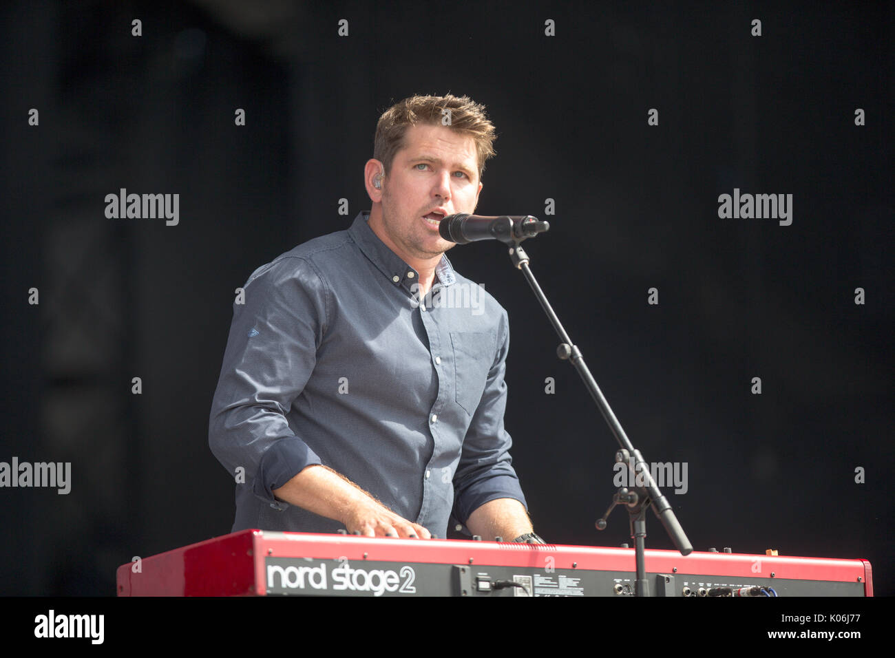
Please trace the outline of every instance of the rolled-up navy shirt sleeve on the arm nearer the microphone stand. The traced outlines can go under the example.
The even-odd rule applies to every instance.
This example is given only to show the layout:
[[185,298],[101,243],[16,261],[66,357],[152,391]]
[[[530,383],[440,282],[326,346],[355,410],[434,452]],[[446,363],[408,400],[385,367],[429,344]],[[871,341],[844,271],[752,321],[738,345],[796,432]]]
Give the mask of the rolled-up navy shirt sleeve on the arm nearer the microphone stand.
[[465,435],[454,478],[453,516],[464,524],[489,500],[512,498],[528,509],[519,478],[511,466],[509,449],[513,441],[504,429],[507,407],[504,373],[509,352],[509,320],[505,310],[500,318],[497,346],[482,399]]

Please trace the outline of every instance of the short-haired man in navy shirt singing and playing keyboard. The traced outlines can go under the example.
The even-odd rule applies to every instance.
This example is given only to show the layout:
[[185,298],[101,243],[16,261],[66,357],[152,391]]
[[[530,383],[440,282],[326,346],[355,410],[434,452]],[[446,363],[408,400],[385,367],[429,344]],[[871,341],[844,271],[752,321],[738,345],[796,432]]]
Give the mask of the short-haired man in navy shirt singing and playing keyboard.
[[503,423],[507,312],[439,235],[473,213],[493,141],[469,98],[405,98],[379,117],[370,212],[251,274],[209,422],[237,475],[234,532],[428,539],[453,515],[484,539],[541,541]]

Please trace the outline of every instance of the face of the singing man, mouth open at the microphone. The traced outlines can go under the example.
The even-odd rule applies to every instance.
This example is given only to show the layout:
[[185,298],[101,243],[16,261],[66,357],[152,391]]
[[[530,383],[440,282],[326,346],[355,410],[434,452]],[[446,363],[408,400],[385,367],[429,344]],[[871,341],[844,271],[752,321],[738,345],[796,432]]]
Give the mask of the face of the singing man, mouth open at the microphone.
[[472,137],[443,125],[411,126],[405,133],[405,148],[395,154],[391,171],[382,179],[382,229],[388,236],[383,242],[390,241],[388,246],[405,261],[428,260],[446,252],[456,243],[439,235],[439,219],[472,213],[479,192],[482,184]]

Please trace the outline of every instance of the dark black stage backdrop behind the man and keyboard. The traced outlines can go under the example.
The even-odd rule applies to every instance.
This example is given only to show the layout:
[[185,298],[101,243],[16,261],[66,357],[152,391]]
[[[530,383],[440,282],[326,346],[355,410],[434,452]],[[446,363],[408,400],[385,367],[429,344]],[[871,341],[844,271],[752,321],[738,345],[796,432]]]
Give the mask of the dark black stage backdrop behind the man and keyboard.
[[[556,201],[533,271],[635,446],[688,463],[686,495],[665,492],[696,550],[866,558],[895,593],[892,19],[888,3],[4,3],[0,461],[70,461],[72,492],[0,490],[0,594],[114,594],[133,556],[229,532],[208,416],[234,288],[369,209],[379,114],[447,92],[498,128],[479,212]],[[121,187],[179,193],[180,224],[107,219]],[[718,218],[735,187],[793,194],[792,225]],[[497,243],[450,256],[509,312],[507,430],[535,529],[627,541],[620,510],[593,529],[616,444],[524,278]],[[649,518],[647,545],[670,548]]]

